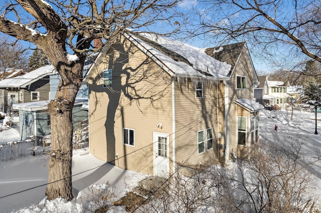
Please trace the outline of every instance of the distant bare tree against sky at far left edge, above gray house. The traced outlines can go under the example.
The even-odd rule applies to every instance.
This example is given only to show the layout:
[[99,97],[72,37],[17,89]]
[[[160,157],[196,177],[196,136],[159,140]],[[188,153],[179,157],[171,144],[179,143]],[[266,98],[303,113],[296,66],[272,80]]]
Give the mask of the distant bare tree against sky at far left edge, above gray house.
[[28,69],[28,51],[21,43],[12,42],[9,36],[0,36],[0,79],[5,72],[13,69]]

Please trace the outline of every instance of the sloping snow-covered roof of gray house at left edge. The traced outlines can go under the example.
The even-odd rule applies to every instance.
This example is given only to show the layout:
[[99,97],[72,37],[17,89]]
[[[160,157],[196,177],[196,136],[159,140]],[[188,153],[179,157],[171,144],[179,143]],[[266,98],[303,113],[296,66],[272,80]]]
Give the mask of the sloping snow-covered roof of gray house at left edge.
[[7,78],[0,81],[0,87],[27,87],[31,83],[45,77],[49,74],[58,73],[52,65],[42,66],[22,76]]

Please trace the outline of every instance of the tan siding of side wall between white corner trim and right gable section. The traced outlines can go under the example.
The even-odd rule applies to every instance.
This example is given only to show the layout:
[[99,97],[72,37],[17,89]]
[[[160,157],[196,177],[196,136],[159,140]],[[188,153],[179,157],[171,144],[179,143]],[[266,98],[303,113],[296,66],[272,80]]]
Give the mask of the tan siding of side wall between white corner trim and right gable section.
[[[195,166],[217,156],[216,85],[203,84],[203,98],[196,97],[195,83],[176,83],[176,161]],[[198,131],[213,127],[214,148],[198,154]]]

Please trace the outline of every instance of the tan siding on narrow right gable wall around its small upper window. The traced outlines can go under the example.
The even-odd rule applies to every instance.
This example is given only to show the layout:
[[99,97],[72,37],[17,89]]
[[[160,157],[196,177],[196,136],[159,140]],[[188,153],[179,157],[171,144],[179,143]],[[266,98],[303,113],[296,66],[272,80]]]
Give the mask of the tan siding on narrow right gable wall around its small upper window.
[[[253,76],[252,72],[249,71],[249,65],[244,57],[241,58],[235,68],[235,71],[231,77],[229,83],[229,152],[236,154],[237,152],[237,114],[236,114],[236,99],[248,98],[253,100]],[[238,89],[236,86],[237,76],[246,77],[246,89]],[[248,118],[247,118],[248,119]],[[247,132],[248,133],[248,132]],[[230,158],[231,156],[229,156]]]

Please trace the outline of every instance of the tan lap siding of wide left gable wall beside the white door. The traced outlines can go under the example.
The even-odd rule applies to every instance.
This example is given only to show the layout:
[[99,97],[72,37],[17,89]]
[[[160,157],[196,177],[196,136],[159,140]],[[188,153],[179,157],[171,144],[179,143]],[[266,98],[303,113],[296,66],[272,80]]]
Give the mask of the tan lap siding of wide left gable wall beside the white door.
[[[152,132],[172,133],[171,83],[166,84],[163,76],[169,76],[158,65],[134,46],[128,50],[128,45],[113,45],[115,49],[122,49],[120,53],[110,50],[104,63],[99,64],[100,73],[104,68],[113,69],[114,91],[102,88],[99,77],[96,77],[96,84],[100,85],[89,86],[90,112],[94,110],[93,105],[97,106],[89,115],[90,147],[95,144],[97,148],[107,150],[108,161],[118,155],[113,163],[121,168],[152,174]],[[98,86],[99,92],[93,91],[92,86]],[[91,125],[94,122],[99,123],[100,129],[97,124]],[[158,128],[157,123],[163,123],[163,128]],[[123,128],[134,129],[134,146],[123,144]],[[94,138],[93,131],[100,137]],[[100,143],[94,141],[98,138]],[[170,150],[170,156],[171,153]]]

